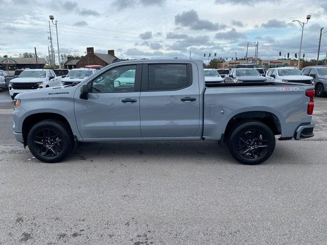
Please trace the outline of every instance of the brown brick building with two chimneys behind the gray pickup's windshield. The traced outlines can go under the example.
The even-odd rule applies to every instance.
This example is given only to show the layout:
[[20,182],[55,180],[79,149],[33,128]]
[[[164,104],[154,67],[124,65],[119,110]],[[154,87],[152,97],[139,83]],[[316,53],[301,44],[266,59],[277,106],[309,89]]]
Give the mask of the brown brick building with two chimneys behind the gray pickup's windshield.
[[84,67],[85,65],[102,65],[106,66],[118,59],[114,56],[114,50],[108,50],[108,54],[94,53],[94,47],[86,48],[86,55],[76,63],[76,67]]

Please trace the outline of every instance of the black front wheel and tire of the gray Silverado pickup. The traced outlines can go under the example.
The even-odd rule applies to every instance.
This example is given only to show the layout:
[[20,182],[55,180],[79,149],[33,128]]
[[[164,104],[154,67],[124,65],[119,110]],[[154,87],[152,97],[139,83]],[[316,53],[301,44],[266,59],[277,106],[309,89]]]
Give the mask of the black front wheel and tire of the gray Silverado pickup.
[[35,158],[55,163],[63,160],[73,150],[74,137],[62,121],[47,119],[37,122],[31,128],[27,143]]

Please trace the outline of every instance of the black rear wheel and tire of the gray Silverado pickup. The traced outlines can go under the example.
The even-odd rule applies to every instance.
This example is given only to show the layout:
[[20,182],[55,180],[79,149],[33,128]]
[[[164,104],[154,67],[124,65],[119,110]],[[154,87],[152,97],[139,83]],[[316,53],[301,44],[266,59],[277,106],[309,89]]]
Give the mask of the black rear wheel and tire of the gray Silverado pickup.
[[272,130],[261,121],[243,121],[235,125],[227,140],[228,150],[238,162],[256,165],[266,161],[275,149]]

